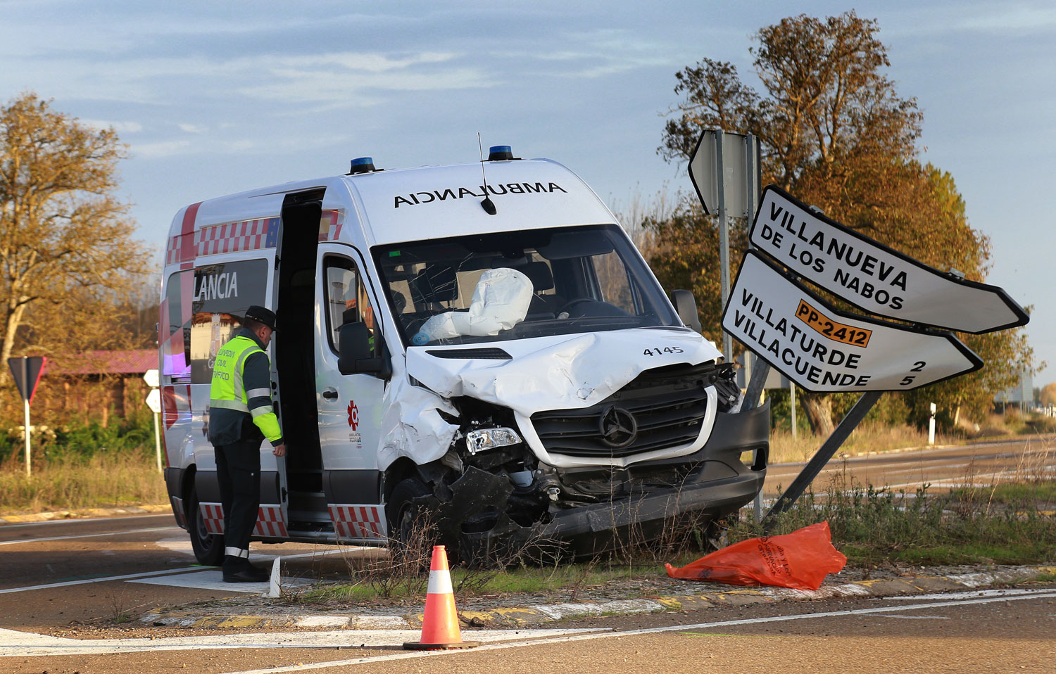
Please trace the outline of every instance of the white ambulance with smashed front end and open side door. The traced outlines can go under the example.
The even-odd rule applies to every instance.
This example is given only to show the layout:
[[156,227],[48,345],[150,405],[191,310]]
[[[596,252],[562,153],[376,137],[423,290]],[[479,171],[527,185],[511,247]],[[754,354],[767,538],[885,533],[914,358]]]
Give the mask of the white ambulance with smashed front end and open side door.
[[427,511],[464,558],[532,537],[589,554],[723,516],[762,486],[770,411],[740,411],[673,297],[577,175],[505,146],[192,204],[158,335],[176,521],[221,561],[209,382],[250,305],[279,316],[287,446],[261,447],[254,540],[388,544]]

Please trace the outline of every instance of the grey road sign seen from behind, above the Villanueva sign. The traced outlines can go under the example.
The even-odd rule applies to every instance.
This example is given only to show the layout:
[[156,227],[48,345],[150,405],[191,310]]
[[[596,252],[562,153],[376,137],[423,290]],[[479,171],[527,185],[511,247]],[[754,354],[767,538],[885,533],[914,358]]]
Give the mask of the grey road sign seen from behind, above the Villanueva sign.
[[[721,142],[721,146],[720,146]],[[758,190],[759,140],[755,136],[709,130],[700,134],[690,157],[690,179],[700,197],[704,213],[719,209],[719,181],[722,175],[722,203],[733,217],[752,217],[752,194]],[[754,188],[754,189],[753,189]]]

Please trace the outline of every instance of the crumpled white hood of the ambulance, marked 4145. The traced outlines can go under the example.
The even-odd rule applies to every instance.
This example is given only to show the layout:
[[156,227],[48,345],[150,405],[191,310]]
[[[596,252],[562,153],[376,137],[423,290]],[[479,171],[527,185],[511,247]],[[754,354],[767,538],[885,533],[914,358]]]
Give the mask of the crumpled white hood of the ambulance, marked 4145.
[[[498,348],[510,360],[437,358],[429,351]],[[664,349],[668,349],[665,351]],[[646,353],[648,351],[648,353]],[[636,328],[459,346],[413,346],[408,374],[444,398],[469,396],[530,417],[545,409],[589,407],[646,369],[721,355],[681,329]]]

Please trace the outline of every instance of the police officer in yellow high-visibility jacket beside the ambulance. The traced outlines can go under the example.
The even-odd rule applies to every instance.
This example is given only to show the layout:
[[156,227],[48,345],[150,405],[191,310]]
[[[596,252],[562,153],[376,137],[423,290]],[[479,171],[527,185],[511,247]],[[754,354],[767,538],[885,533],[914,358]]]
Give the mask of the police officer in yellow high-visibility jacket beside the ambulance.
[[279,419],[271,407],[267,348],[276,315],[264,307],[246,309],[242,330],[216,353],[209,389],[209,442],[215,448],[216,480],[224,504],[224,581],[263,582],[269,574],[249,563],[249,537],[261,498],[264,438],[277,457],[286,455]]

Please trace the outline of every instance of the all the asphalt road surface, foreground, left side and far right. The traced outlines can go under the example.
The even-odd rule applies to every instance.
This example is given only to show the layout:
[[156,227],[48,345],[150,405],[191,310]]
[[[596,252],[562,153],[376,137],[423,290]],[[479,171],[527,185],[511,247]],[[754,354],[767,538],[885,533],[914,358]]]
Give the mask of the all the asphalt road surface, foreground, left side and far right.
[[[1049,443],[1051,444],[1051,443]],[[887,484],[914,489],[923,483],[953,486],[975,482],[989,484],[995,478],[1023,470],[1056,470],[1056,452],[1041,442],[1014,442],[836,460],[827,473],[854,476],[861,483]],[[791,482],[799,466],[772,466],[767,492],[776,496],[778,484]],[[816,484],[824,490],[827,477]],[[258,561],[282,555],[287,573],[304,577],[348,576],[347,558],[369,552],[339,551],[333,546],[254,543]],[[56,521],[0,525],[0,636],[14,644],[14,652],[34,635],[65,638],[135,637],[157,634],[161,650],[110,655],[17,655],[0,656],[0,672],[121,672],[167,671],[234,672],[285,667],[298,662],[347,660],[399,655],[393,660],[371,660],[366,666],[347,666],[347,671],[524,671],[526,663],[545,663],[552,670],[601,672],[614,667],[624,671],[773,671],[781,662],[794,662],[787,671],[1056,671],[1052,659],[1056,622],[1049,596],[1008,598],[1001,601],[957,603],[905,611],[902,617],[876,613],[840,614],[794,620],[770,620],[776,614],[845,611],[870,608],[867,600],[844,602],[835,608],[811,602],[744,608],[734,612],[709,610],[695,614],[662,614],[647,617],[562,623],[577,629],[663,629],[620,637],[557,641],[545,646],[488,647],[472,654],[403,659],[395,643],[407,635],[392,635],[388,643],[371,648],[370,638],[341,632],[319,637],[322,646],[304,649],[275,648],[274,636],[256,637],[256,648],[195,649],[169,651],[162,637],[138,622],[121,623],[125,616],[149,609],[202,602],[238,595],[220,581],[220,573],[194,564],[186,532],[170,515]],[[966,599],[965,599],[966,600]],[[889,600],[891,602],[895,600]],[[906,601],[902,600],[905,605]],[[886,605],[886,604],[885,604]],[[841,608],[843,606],[843,608]],[[935,614],[935,615],[931,615]],[[941,614],[941,615],[939,615]],[[918,617],[911,617],[918,616]],[[928,617],[930,616],[930,617]],[[751,622],[730,623],[730,620]],[[684,627],[682,630],[678,625]],[[700,623],[704,627],[691,627]],[[706,623],[706,624],[704,624]],[[719,624],[721,623],[721,624]],[[709,627],[710,625],[710,627]],[[678,628],[678,629],[675,629]],[[16,634],[5,631],[18,631]],[[684,634],[682,632],[685,632]],[[32,634],[26,634],[32,633]],[[693,634],[690,634],[693,633]],[[296,634],[295,634],[296,636]],[[225,646],[229,635],[216,635]],[[293,638],[293,637],[290,637]],[[301,637],[298,637],[301,638]],[[467,637],[469,638],[469,637]],[[494,638],[520,641],[521,635]],[[367,643],[364,648],[353,643]],[[394,640],[394,639],[399,639]],[[108,641],[109,643],[110,641]],[[64,641],[57,652],[70,652]],[[100,642],[94,642],[99,646]],[[21,646],[20,646],[21,644]],[[342,646],[337,651],[337,644]],[[175,648],[174,646],[171,648]],[[63,651],[65,649],[65,651]],[[516,651],[514,654],[513,651]],[[416,659],[417,658],[417,659]],[[626,660],[624,660],[626,658]],[[784,659],[782,659],[784,658]],[[186,668],[183,667],[186,665]],[[1024,669],[1019,669],[1022,666]],[[694,669],[696,668],[696,669]],[[828,668],[828,669],[826,669]]]

